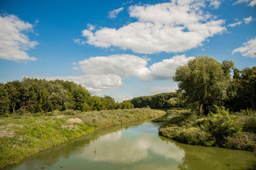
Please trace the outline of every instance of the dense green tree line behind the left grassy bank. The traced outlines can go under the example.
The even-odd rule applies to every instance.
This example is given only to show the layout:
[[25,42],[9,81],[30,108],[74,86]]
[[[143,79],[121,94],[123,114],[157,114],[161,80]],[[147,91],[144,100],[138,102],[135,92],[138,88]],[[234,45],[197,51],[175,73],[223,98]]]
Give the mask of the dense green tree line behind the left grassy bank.
[[51,111],[102,111],[134,108],[131,102],[118,103],[110,96],[92,96],[72,81],[24,78],[0,84],[0,115]]

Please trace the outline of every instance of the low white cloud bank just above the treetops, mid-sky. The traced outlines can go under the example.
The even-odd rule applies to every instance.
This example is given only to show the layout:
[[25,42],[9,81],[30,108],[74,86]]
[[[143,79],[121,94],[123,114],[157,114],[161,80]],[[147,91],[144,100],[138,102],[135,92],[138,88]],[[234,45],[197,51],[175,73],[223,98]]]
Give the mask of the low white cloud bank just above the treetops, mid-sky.
[[[178,55],[147,67],[149,59],[135,55],[110,55],[90,57],[75,64],[75,69],[85,73],[78,77],[37,77],[41,79],[62,79],[81,84],[92,93],[117,89],[127,77],[137,77],[142,81],[171,80],[176,68],[186,64],[193,57]],[[122,100],[124,98],[120,98]]]

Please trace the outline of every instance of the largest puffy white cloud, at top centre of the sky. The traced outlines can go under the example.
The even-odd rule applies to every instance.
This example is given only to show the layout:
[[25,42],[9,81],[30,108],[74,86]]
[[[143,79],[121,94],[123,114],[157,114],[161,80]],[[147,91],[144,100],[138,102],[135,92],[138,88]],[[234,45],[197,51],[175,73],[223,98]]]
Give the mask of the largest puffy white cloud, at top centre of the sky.
[[[218,1],[211,1],[217,7]],[[97,47],[120,47],[144,54],[183,52],[203,45],[203,42],[226,28],[225,21],[203,11],[205,1],[181,1],[130,6],[129,16],[137,22],[121,28],[82,30],[87,43]]]

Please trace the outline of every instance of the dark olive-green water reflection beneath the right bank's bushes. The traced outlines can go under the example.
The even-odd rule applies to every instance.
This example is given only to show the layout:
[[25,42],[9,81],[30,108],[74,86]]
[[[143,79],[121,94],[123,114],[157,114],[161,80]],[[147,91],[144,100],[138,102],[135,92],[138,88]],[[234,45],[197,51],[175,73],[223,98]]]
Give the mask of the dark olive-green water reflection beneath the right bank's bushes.
[[161,140],[171,142],[186,153],[183,163],[178,169],[247,169],[253,164],[256,156],[253,152],[223,149],[218,147],[201,147],[186,145],[161,137]]

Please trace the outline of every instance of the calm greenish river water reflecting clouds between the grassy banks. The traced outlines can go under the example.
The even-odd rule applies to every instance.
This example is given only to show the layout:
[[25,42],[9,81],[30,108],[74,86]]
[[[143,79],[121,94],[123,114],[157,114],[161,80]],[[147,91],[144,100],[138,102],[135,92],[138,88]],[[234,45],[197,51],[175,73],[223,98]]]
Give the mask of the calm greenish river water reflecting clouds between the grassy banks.
[[151,121],[98,130],[46,149],[9,169],[247,169],[253,152],[185,145]]

